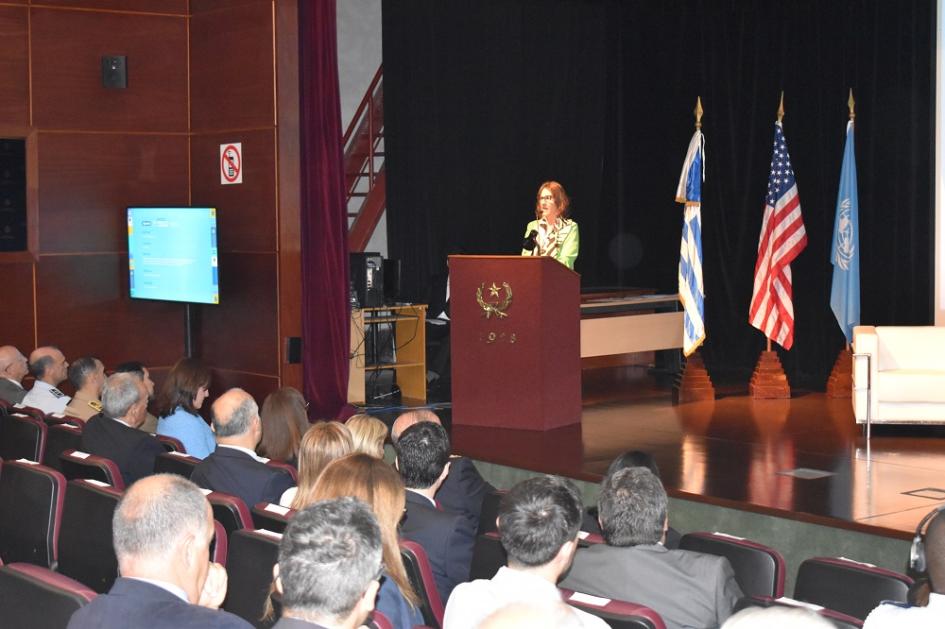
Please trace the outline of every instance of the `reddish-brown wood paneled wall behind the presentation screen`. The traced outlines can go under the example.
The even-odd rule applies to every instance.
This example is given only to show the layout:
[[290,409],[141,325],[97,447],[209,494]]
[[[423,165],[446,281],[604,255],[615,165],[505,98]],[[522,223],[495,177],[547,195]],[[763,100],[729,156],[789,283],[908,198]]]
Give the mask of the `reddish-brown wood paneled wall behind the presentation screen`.
[[[184,308],[129,299],[124,210],[213,204],[221,304],[195,307],[212,391],[299,386],[296,3],[0,0],[0,38],[0,132],[28,135],[33,162],[31,250],[0,254],[0,344],[160,377]],[[102,87],[103,55],[127,56],[127,89]],[[220,184],[222,142],[243,143],[241,185]]]

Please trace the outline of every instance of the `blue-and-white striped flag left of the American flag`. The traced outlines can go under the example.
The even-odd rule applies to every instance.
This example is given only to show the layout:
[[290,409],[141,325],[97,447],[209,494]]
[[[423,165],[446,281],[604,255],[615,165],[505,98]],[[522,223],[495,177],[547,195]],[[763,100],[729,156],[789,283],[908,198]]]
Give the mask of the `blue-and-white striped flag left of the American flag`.
[[683,353],[692,354],[705,340],[705,289],[702,285],[702,181],[705,138],[696,129],[676,187],[676,201],[686,204],[679,245],[679,300],[683,305]]

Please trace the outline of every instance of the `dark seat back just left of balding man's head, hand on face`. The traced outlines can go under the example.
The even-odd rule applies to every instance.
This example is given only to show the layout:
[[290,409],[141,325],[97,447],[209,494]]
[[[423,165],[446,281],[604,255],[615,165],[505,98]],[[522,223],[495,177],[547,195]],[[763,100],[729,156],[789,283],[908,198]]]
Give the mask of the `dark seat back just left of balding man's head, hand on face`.
[[112,515],[120,498],[120,491],[96,480],[71,480],[66,488],[57,570],[100,594],[118,576]]

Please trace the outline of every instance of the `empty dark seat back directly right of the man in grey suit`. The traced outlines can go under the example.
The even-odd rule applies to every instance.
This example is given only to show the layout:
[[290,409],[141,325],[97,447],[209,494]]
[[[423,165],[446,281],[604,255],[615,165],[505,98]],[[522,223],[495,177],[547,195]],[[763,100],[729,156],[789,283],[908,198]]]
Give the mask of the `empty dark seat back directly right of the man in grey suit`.
[[727,558],[746,596],[784,595],[784,557],[773,548],[741,537],[707,532],[683,535],[679,548]]

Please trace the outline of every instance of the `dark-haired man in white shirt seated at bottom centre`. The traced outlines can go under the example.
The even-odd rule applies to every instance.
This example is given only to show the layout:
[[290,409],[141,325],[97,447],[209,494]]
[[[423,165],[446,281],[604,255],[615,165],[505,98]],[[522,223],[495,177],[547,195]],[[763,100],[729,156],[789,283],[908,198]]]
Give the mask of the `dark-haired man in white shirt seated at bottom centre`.
[[[513,487],[499,505],[499,535],[508,566],[491,579],[457,585],[446,605],[443,628],[472,629],[513,603],[561,603],[556,584],[577,550],[581,507],[578,489],[567,479],[541,476]],[[581,610],[570,613],[575,626],[607,627]]]

